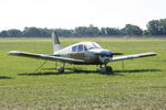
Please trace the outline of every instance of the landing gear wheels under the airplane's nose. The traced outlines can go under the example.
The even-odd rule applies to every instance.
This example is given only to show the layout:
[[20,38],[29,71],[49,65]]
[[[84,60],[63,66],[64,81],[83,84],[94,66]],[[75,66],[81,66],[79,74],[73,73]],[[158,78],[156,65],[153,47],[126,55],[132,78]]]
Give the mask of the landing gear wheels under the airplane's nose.
[[113,74],[113,68],[106,65],[105,67],[102,67],[102,65],[100,65],[100,67],[96,70],[102,74]]

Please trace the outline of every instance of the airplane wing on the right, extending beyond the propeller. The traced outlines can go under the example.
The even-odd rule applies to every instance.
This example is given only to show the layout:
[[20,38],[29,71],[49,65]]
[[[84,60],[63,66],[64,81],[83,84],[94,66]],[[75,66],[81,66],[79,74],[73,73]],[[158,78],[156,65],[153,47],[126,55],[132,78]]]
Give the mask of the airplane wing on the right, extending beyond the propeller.
[[111,62],[124,61],[124,59],[133,59],[133,58],[141,58],[147,56],[156,56],[156,53],[142,53],[142,54],[133,54],[133,55],[125,55],[125,56],[117,56],[113,57]]

